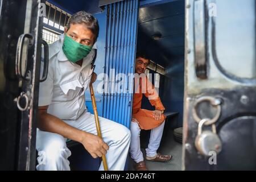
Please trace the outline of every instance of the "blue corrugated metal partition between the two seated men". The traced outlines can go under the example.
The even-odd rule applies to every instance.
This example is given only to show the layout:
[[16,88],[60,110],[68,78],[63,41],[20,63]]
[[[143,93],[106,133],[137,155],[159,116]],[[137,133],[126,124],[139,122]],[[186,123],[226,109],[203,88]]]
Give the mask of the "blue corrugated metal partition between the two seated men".
[[[104,93],[103,116],[130,127],[133,93],[132,84],[121,80],[134,73],[138,24],[138,0],[107,5],[105,71],[109,76],[108,92]],[[115,80],[118,73],[124,73]],[[105,85],[107,86],[107,85]],[[117,93],[117,89],[125,92]]]

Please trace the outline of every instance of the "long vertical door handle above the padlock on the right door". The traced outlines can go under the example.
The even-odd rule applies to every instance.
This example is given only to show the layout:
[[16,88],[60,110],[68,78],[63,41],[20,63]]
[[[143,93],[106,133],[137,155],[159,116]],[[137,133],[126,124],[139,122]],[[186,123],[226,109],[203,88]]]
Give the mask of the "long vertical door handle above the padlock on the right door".
[[205,0],[195,0],[193,10],[195,71],[200,79],[207,79]]

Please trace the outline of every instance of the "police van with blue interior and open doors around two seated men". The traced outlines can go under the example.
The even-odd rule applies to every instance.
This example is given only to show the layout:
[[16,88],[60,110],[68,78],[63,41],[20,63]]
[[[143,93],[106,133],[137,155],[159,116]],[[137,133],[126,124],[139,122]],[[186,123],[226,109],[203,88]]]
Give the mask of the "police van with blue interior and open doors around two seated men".
[[[145,73],[167,117],[159,151],[173,158],[147,162],[148,169],[255,170],[255,9],[255,0],[0,0],[0,169],[35,170],[48,45],[84,10],[100,26],[93,84],[98,115],[130,129],[133,80],[122,93],[104,92],[102,82],[115,88],[133,74],[139,51],[150,59]],[[85,98],[93,113],[89,90]],[[145,97],[142,108],[154,110]],[[149,137],[142,131],[142,151]],[[72,170],[98,170],[101,159],[72,140],[67,146]],[[134,170],[129,155],[125,169]]]

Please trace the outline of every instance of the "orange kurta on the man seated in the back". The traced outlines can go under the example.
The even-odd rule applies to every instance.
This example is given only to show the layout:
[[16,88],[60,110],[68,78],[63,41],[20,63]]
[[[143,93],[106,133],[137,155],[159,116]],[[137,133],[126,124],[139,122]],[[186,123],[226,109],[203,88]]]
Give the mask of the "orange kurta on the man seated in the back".
[[158,96],[158,92],[156,92],[155,90],[154,85],[147,78],[135,78],[134,91],[135,93],[133,94],[133,118],[137,119],[139,127],[141,127],[141,129],[143,130],[151,130],[155,127],[158,127],[164,121],[164,119],[166,119],[166,116],[162,114],[161,118],[159,120],[156,120],[154,118],[154,111],[141,109],[142,94],[144,94],[144,96],[146,96],[150,101],[150,104],[152,106],[155,106],[155,109],[165,110]]

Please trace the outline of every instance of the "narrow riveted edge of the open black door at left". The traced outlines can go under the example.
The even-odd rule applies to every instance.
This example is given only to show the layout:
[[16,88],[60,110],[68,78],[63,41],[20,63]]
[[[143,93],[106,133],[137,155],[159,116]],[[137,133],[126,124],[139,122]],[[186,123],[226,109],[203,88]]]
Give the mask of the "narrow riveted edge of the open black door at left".
[[[34,170],[36,160],[36,117],[38,110],[38,92],[40,76],[40,57],[42,43],[42,18],[39,18],[39,1],[32,1],[30,34],[34,41],[28,48],[27,69],[28,80],[22,81],[22,90],[30,94],[30,107],[22,111],[20,118],[18,170]],[[47,47],[46,45],[44,46]],[[47,48],[46,48],[47,49]],[[48,63],[46,63],[48,65]],[[46,78],[44,71],[44,78]]]

